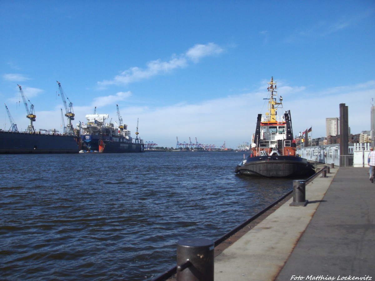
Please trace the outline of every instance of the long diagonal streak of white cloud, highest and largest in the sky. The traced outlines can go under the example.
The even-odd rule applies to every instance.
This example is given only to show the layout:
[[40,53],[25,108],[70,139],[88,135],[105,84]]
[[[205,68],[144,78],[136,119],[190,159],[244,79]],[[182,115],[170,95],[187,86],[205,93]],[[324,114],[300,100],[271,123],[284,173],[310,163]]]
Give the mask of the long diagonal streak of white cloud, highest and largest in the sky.
[[172,70],[181,69],[188,66],[189,61],[198,63],[203,57],[217,55],[223,51],[218,45],[208,43],[207,45],[197,44],[190,48],[185,54],[173,55],[169,61],[154,60],[147,63],[146,69],[131,67],[115,76],[112,80],[98,82],[99,87],[107,85],[127,85],[143,79],[148,79],[156,75],[170,73]]

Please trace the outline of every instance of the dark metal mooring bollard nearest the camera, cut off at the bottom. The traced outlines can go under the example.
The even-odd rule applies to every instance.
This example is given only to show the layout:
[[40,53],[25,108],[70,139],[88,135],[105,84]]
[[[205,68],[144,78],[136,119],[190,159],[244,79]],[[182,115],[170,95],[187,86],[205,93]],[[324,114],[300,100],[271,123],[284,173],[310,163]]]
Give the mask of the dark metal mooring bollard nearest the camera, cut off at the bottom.
[[213,281],[214,241],[204,238],[177,242],[177,281]]

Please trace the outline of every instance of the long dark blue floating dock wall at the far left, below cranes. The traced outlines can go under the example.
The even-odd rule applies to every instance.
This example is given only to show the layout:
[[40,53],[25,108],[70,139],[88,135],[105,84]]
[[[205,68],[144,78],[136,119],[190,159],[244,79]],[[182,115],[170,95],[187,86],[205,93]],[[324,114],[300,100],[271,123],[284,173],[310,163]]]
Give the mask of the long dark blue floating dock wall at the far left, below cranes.
[[0,154],[78,153],[74,136],[0,131]]

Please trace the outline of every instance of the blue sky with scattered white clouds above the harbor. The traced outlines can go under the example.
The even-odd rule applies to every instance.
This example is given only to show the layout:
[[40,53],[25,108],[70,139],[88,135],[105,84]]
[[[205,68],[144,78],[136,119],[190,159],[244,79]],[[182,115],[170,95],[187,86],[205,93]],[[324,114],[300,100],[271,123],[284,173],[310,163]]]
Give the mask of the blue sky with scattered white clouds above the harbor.
[[[326,3],[327,2],[327,3]],[[375,98],[375,2],[0,0],[0,100],[36,129],[61,130],[59,81],[75,123],[120,115],[135,138],[236,148],[267,110],[278,82],[293,133],[349,111],[352,133],[370,129]],[[21,101],[21,103],[19,103]],[[65,121],[66,122],[66,121]],[[0,129],[9,129],[5,106]]]

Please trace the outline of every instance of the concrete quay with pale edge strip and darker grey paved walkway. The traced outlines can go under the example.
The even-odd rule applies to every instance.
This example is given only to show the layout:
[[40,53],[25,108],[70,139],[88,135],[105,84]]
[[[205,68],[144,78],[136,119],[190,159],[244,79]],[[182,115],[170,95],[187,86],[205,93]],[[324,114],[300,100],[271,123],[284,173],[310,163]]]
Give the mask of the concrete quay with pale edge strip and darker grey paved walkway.
[[[214,280],[375,280],[375,184],[368,167],[331,168],[214,259]],[[356,278],[356,279],[354,279]],[[361,279],[360,279],[361,278]]]

